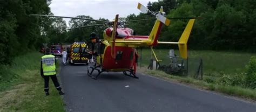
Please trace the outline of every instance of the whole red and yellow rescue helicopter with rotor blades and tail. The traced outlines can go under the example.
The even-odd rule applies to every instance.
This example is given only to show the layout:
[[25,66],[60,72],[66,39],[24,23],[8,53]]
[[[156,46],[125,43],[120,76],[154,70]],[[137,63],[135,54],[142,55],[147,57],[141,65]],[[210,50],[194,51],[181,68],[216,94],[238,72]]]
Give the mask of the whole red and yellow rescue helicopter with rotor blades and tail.
[[[187,41],[190,36],[194,21],[196,18],[181,18],[190,19],[185,27],[185,30],[181,34],[178,42],[172,41],[158,41],[159,34],[161,32],[161,27],[163,25],[169,26],[170,19],[180,19],[180,18],[166,18],[163,7],[161,6],[160,11],[153,12],[147,9],[144,5],[138,3],[137,8],[142,11],[142,13],[150,13],[156,16],[156,22],[149,34],[149,36],[135,36],[134,31],[125,26],[125,22],[118,22],[119,15],[116,15],[113,22],[106,22],[102,20],[87,19],[87,18],[73,18],[73,17],[63,17],[63,16],[49,16],[49,15],[31,15],[31,16],[49,16],[49,17],[62,17],[62,18],[72,18],[72,19],[84,19],[93,20],[96,22],[103,22],[103,24],[87,25],[81,27],[75,27],[73,29],[80,29],[83,27],[109,25],[104,32],[104,40],[92,43],[92,54],[87,49],[84,49],[82,57],[91,59],[93,56],[96,57],[96,63],[93,66],[88,66],[87,75],[92,79],[97,79],[98,76],[103,72],[123,72],[124,75],[137,78],[136,75],[136,48],[137,47],[150,47],[154,58],[158,61],[156,54],[153,51],[153,47],[158,44],[176,44],[179,47],[180,57],[187,59]],[[143,19],[152,20],[152,19]],[[130,22],[135,22],[140,20],[131,20]],[[128,21],[129,22],[129,21]],[[66,30],[73,30],[66,29]],[[88,47],[90,43],[86,45]],[[96,75],[93,72],[97,71]]]

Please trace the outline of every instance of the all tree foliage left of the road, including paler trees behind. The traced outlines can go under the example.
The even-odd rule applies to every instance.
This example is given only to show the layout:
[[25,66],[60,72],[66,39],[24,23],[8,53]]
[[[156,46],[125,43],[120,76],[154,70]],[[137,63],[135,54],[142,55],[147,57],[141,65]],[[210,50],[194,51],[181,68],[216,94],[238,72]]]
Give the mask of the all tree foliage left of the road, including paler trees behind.
[[0,1],[0,64],[42,43],[60,43],[65,37],[60,30],[66,29],[62,18],[31,17],[30,14],[52,15],[48,0],[4,0]]

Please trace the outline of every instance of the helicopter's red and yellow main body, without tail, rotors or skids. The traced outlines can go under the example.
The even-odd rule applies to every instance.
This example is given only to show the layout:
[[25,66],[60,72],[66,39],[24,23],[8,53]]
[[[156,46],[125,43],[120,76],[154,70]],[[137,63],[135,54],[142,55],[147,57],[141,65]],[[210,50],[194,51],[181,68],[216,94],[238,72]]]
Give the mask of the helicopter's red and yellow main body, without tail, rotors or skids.
[[[128,69],[133,69],[134,63],[136,63],[136,52],[134,46],[128,46],[123,43],[116,43],[116,58],[111,57],[111,33],[113,28],[108,27],[104,31],[104,41],[100,43],[101,47],[97,56],[97,64],[102,66],[105,71],[122,72]],[[118,28],[116,40],[123,40],[127,37],[133,36],[133,30],[130,28]],[[100,59],[101,58],[101,59]]]

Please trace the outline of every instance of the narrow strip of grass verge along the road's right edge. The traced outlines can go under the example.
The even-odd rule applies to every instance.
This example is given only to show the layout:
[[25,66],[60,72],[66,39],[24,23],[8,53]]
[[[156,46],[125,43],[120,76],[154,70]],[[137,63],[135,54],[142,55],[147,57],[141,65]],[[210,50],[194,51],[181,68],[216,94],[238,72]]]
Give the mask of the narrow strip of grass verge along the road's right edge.
[[196,80],[190,77],[182,77],[182,76],[174,76],[174,75],[166,74],[165,72],[162,72],[162,71],[157,71],[157,70],[149,71],[145,67],[139,68],[138,71],[155,76],[157,78],[170,80],[174,82],[185,83],[187,85],[192,85],[201,89],[214,90],[220,93],[239,96],[245,99],[256,101],[256,89],[248,89],[248,88],[242,88],[238,86],[216,85],[215,83],[208,83],[204,80]]

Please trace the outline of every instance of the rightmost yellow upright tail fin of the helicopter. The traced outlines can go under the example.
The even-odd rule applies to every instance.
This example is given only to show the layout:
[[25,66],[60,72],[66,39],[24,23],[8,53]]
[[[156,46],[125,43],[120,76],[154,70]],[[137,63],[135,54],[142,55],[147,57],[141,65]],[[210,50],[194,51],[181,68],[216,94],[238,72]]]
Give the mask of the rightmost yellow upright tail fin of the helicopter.
[[187,26],[185,28],[185,30],[183,31],[180,39],[179,39],[179,52],[180,52],[180,56],[184,59],[187,59],[187,40],[190,37],[190,33],[192,30],[192,27],[194,25],[194,20],[195,19],[190,19],[187,23]]

